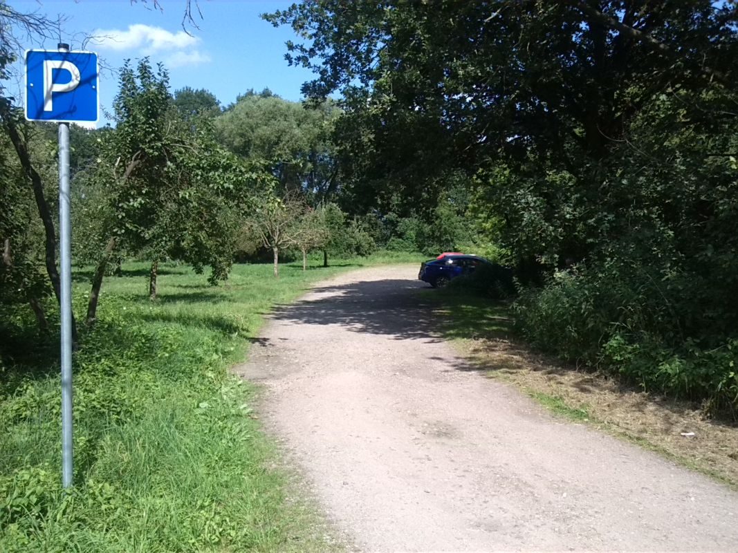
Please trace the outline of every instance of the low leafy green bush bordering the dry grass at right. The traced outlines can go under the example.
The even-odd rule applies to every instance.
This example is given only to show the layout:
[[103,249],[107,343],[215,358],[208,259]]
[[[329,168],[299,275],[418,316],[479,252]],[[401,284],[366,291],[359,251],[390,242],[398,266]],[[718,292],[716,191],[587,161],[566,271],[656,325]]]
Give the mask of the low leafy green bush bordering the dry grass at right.
[[705,400],[709,412],[738,408],[734,328],[710,328],[699,316],[709,289],[693,290],[699,282],[686,274],[658,274],[636,260],[556,271],[542,288],[523,291],[517,324],[537,346],[646,390]]

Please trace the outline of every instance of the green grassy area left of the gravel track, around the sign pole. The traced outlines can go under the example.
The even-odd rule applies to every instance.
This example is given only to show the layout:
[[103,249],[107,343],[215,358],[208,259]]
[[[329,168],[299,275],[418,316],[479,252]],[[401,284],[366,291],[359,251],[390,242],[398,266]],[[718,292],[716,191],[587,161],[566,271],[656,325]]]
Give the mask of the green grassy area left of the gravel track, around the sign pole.
[[[103,285],[98,323],[75,355],[75,490],[60,487],[58,341],[2,321],[0,551],[328,551],[308,506],[251,414],[255,390],[228,372],[258,338],[264,314],[311,282],[358,265],[415,261],[380,254],[302,271],[238,265],[211,288],[164,266],[149,302],[148,267]],[[75,272],[75,312],[89,274]],[[80,329],[81,330],[81,329]]]

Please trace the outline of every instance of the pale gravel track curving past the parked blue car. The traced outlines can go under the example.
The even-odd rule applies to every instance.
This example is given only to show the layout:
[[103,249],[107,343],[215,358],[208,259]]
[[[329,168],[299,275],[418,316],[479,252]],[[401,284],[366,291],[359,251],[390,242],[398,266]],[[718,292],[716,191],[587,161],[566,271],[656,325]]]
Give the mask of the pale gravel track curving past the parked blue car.
[[416,274],[324,282],[239,369],[357,549],[738,551],[738,494],[484,378],[435,333]]

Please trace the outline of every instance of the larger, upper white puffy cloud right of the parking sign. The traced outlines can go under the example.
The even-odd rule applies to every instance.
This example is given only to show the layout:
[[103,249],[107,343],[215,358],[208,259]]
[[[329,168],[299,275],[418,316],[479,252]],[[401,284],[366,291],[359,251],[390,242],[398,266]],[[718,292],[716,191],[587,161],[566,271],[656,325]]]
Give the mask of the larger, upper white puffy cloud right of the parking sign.
[[200,39],[187,35],[184,31],[170,32],[162,27],[135,24],[127,31],[120,29],[97,29],[90,44],[102,49],[134,50],[142,49],[144,54],[162,50],[180,50],[199,44]]

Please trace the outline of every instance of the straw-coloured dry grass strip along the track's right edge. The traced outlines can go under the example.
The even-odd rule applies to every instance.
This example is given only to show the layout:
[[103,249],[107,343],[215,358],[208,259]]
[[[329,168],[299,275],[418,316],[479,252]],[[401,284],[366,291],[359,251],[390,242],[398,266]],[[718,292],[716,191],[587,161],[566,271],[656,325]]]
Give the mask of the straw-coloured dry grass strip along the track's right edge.
[[[459,338],[455,344],[489,377],[517,386],[551,411],[638,442],[738,489],[738,427],[706,420],[699,406],[536,355],[509,337]],[[694,435],[683,435],[688,433]]]

